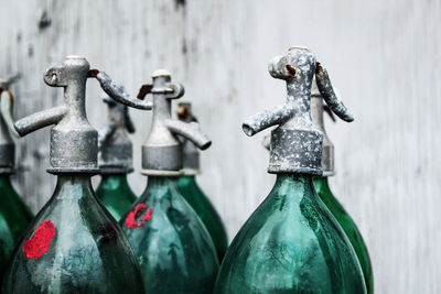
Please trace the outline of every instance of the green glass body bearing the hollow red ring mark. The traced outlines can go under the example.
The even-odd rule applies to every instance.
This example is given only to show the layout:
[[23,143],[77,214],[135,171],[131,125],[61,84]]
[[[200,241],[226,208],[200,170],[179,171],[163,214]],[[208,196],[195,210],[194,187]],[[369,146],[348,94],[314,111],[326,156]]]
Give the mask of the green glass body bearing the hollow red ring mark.
[[218,261],[212,238],[178,189],[178,177],[150,176],[120,221],[147,293],[212,293]]

